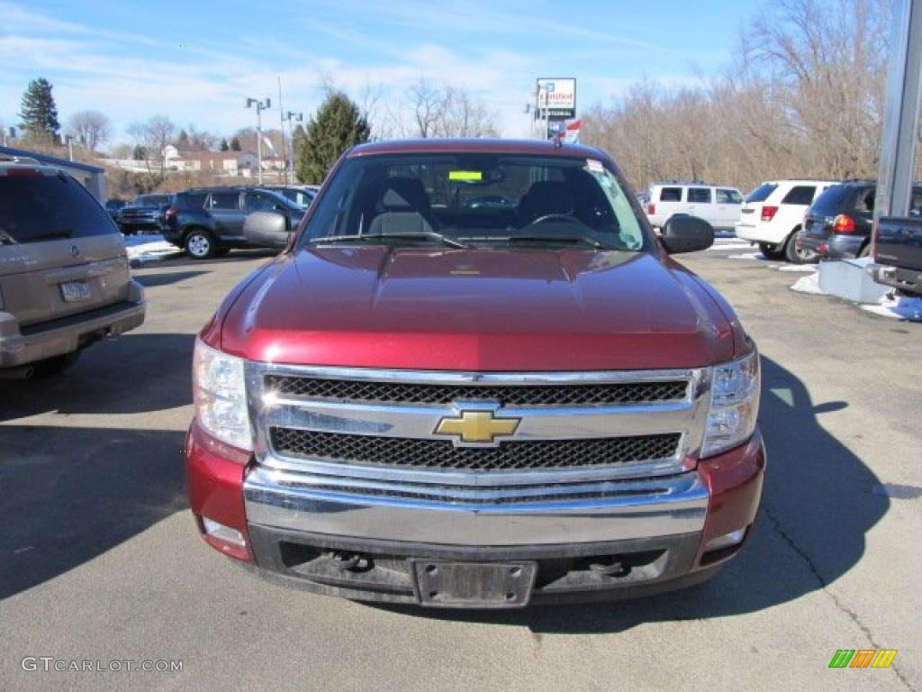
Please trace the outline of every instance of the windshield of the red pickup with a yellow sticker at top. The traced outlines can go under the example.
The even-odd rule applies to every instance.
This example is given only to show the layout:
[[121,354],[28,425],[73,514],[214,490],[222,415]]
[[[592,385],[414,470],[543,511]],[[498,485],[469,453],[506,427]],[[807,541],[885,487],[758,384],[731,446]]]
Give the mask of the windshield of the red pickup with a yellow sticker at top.
[[319,204],[302,243],[627,251],[650,243],[618,178],[595,160],[502,154],[356,157],[339,169]]

